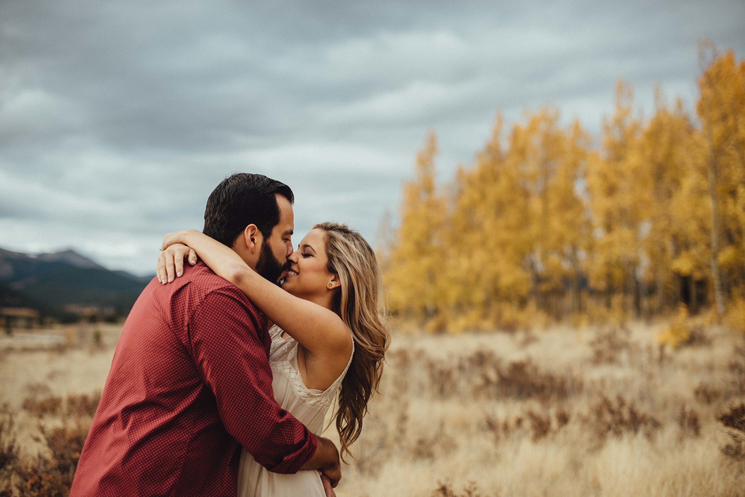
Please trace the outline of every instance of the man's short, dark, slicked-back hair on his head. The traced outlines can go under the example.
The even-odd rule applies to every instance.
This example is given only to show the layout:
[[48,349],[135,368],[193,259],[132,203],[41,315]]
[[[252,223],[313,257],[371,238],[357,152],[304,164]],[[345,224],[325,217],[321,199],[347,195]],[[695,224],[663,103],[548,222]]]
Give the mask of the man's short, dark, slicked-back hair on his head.
[[279,222],[276,193],[290,203],[295,202],[290,187],[276,179],[250,173],[228,176],[212,190],[207,199],[202,232],[232,247],[241,231],[247,225],[255,224],[264,239],[269,238]]

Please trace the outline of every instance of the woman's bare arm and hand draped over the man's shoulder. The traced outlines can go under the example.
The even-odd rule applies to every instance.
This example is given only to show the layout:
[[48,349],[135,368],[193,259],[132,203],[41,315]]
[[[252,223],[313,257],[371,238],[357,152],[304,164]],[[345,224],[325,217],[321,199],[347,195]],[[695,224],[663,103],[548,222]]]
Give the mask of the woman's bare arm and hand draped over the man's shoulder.
[[290,295],[251,269],[235,251],[199,231],[176,231],[163,237],[164,250],[158,262],[161,281],[163,275],[170,275],[168,280],[172,280],[173,270],[168,271],[169,263],[175,266],[172,258],[180,257],[183,266],[186,247],[179,246],[174,251],[165,250],[177,243],[193,249],[216,275],[238,286],[261,312],[312,355],[348,356],[351,353],[352,337],[349,329],[335,312]]

